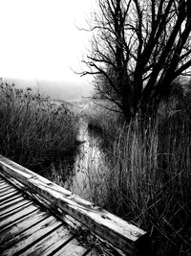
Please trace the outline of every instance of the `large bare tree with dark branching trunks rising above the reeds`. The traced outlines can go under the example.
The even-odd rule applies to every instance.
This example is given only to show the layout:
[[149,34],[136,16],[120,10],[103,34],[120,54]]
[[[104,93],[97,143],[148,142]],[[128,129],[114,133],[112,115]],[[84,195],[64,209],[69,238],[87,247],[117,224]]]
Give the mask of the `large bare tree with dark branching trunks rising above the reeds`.
[[82,76],[129,120],[159,101],[191,65],[190,0],[97,0],[91,54]]

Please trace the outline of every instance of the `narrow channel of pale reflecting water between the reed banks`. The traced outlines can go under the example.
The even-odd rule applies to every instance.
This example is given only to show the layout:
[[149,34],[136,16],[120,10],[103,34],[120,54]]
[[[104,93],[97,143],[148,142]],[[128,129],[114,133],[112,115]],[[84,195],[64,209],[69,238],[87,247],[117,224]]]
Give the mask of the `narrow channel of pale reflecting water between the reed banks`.
[[57,163],[42,175],[54,183],[72,191],[74,194],[91,200],[91,190],[100,184],[97,179],[103,178],[107,166],[104,151],[101,149],[101,138],[88,128],[86,121],[81,118],[77,140],[80,144],[76,151]]

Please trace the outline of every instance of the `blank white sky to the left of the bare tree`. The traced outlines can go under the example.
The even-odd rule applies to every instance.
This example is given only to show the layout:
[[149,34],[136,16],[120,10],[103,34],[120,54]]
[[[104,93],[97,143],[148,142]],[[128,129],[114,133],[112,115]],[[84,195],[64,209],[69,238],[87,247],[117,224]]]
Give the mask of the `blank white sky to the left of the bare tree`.
[[81,81],[96,0],[0,0],[0,77]]

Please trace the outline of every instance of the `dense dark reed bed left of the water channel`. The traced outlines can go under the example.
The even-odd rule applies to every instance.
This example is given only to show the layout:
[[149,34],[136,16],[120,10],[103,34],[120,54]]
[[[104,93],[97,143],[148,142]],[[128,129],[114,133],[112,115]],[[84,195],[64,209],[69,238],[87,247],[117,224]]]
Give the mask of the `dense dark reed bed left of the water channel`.
[[76,118],[65,103],[0,84],[0,153],[29,168],[74,150]]

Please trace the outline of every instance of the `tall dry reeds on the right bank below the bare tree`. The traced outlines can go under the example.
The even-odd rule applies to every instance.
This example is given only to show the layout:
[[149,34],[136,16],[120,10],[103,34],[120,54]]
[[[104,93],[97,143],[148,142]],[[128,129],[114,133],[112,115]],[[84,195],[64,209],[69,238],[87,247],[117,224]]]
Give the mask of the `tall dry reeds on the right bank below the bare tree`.
[[109,168],[90,173],[92,199],[146,229],[157,255],[191,255],[190,97],[162,103],[155,121],[137,116],[114,128],[101,120],[117,133]]

